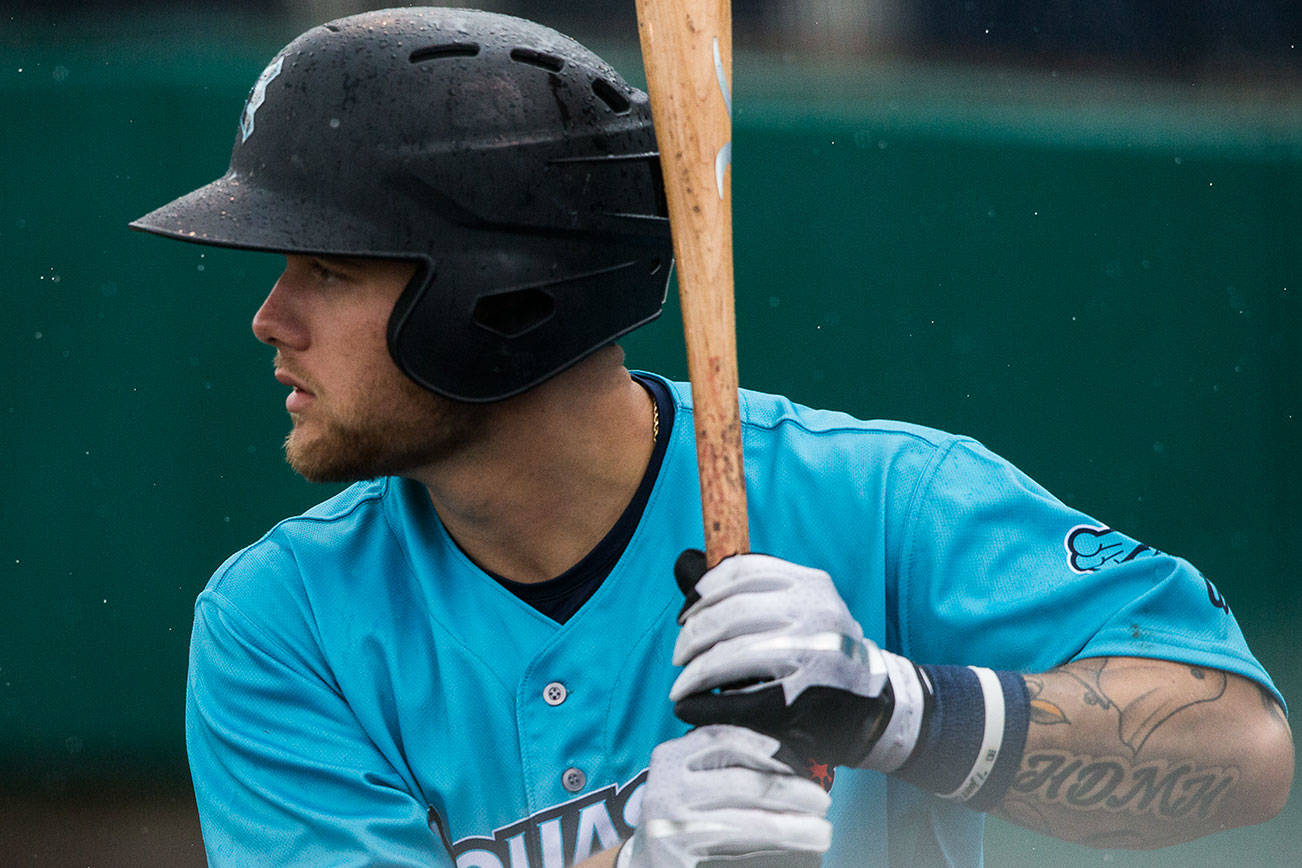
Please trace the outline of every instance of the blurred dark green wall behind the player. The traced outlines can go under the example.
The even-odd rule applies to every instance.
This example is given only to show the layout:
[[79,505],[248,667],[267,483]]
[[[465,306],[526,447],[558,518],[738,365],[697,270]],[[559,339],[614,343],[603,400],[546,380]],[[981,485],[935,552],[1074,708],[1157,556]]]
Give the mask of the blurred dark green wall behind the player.
[[[1302,696],[1289,21],[1273,53],[1144,64],[980,43],[979,17],[945,42],[922,0],[867,4],[880,21],[859,30],[827,12],[845,4],[803,4],[824,9],[803,29],[802,4],[768,5],[738,3],[742,384],[979,437],[1199,565]],[[0,5],[0,864],[203,861],[181,733],[194,596],[333,489],[283,465],[284,389],[249,332],[279,259],[126,223],[220,174],[271,53],[355,8]],[[497,8],[560,22],[643,81],[628,14]],[[685,376],[678,329],[671,305],[626,342],[630,363]],[[1154,854],[996,821],[987,843],[991,865],[1299,854],[1302,796]]]

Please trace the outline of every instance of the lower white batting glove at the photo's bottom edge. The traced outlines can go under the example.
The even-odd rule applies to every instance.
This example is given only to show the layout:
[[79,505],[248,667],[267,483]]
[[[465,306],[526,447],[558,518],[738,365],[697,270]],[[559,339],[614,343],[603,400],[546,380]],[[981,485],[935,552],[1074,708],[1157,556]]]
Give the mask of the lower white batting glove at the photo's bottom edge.
[[832,842],[831,799],[792,772],[784,751],[740,726],[706,726],[660,744],[642,821],[616,868],[816,868]]

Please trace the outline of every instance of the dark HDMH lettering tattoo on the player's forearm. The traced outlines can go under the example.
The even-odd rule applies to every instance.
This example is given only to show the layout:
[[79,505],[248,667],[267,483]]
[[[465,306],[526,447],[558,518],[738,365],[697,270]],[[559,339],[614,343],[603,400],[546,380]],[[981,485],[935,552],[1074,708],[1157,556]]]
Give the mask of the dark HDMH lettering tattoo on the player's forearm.
[[1039,751],[1022,759],[1012,789],[1079,811],[1206,820],[1238,777],[1233,766],[1168,760],[1135,764],[1120,756]]

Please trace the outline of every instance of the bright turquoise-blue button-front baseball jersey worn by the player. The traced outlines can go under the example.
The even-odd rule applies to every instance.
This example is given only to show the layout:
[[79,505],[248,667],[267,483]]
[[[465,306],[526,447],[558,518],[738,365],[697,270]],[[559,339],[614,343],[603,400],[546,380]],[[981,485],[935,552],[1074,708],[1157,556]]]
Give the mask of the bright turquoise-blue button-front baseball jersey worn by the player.
[[[466,558],[426,489],[359,483],[230,557],[195,605],[186,743],[214,865],[562,868],[641,816],[702,545],[686,385],[637,530],[565,623]],[[1275,690],[1187,562],[978,442],[742,392],[751,545],[831,573],[918,662],[1161,657]],[[825,865],[979,864],[982,815],[838,769]]]

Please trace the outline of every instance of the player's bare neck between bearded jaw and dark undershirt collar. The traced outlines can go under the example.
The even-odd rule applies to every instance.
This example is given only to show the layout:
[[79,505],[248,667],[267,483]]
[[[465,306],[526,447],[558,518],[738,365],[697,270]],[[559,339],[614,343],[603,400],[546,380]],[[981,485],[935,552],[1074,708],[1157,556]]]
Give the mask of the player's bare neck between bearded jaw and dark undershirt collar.
[[609,347],[488,409],[488,433],[410,474],[483,569],[517,582],[578,563],[615,526],[654,448],[652,402]]

